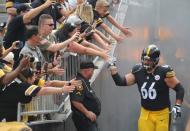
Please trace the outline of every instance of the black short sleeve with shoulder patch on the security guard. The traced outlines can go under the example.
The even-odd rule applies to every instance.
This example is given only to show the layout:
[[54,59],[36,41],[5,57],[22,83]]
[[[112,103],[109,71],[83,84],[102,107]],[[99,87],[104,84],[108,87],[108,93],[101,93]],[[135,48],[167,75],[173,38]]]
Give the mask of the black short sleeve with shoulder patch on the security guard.
[[82,102],[84,99],[84,93],[85,91],[82,85],[76,87],[76,89],[70,94],[71,101]]

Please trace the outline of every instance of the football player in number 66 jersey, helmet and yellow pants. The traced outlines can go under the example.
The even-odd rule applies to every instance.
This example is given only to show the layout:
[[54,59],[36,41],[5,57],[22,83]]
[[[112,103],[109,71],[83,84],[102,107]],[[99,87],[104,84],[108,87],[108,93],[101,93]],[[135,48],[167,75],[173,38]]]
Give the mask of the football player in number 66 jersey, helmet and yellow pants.
[[168,131],[170,100],[169,88],[176,91],[176,103],[172,108],[174,117],[181,116],[184,88],[169,65],[158,65],[160,50],[149,45],[142,52],[141,63],[132,72],[120,76],[115,64],[110,64],[112,78],[117,86],[137,84],[141,96],[139,131]]

